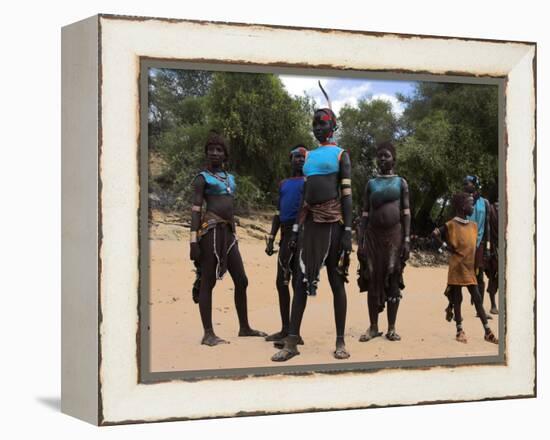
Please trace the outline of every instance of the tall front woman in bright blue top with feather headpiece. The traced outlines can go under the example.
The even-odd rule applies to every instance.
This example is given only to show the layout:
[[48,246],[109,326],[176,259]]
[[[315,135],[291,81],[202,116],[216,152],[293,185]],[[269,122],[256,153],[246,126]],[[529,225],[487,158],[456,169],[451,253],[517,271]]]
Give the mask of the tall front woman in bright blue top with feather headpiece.
[[284,347],[271,358],[276,362],[299,354],[297,344],[307,296],[316,294],[323,265],[327,267],[333,294],[336,321],[333,354],[336,359],[349,357],[344,341],[347,308],[344,282],[346,261],[351,252],[351,164],[347,152],[332,142],[335,130],[333,111],[330,108],[317,110],[313,117],[313,134],[320,145],[308,152],[304,164],[303,205],[298,223],[293,226],[292,242],[297,242],[297,249],[290,327]]

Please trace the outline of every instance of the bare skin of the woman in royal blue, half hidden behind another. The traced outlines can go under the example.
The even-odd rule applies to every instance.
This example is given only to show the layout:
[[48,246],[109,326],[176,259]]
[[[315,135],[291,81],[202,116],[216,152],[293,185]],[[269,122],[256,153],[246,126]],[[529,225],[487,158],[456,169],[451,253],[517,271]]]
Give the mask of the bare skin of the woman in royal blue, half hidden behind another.
[[[303,151],[297,151],[296,153],[292,154],[290,163],[292,168],[292,177],[303,176],[302,169],[304,167],[305,159],[306,156]],[[271,223],[271,236],[268,238],[265,248],[265,253],[269,256],[275,253],[273,243],[280,226],[281,219],[279,213],[277,213],[273,216],[273,221]],[[277,265],[276,285],[277,292],[279,294],[279,312],[281,314],[282,328],[281,331],[267,336],[266,341],[280,341],[281,339],[288,336],[288,325],[290,320],[290,291],[288,285],[286,285],[284,282],[283,270],[281,269],[281,267],[279,267],[279,265]]]

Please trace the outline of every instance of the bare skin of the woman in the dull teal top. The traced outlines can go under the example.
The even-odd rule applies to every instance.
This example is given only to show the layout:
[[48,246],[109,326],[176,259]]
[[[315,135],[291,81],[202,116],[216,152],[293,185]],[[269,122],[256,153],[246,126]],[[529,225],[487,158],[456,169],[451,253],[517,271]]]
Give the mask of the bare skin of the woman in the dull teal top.
[[[376,163],[381,175],[393,175],[395,159],[390,150],[385,148],[379,149],[376,152]],[[363,243],[363,236],[369,224],[376,228],[390,228],[398,223],[401,223],[403,231],[401,260],[406,262],[410,255],[410,243],[405,241],[404,238],[410,236],[411,229],[410,213],[405,212],[405,210],[409,209],[409,188],[407,186],[407,182],[404,179],[402,181],[400,200],[385,202],[379,206],[371,206],[370,196],[369,186],[367,185],[363,198],[363,215],[361,216],[361,224],[359,227],[359,243]],[[357,253],[359,258],[365,262],[368,258],[376,258],[376,255],[368,255],[365,247],[358,248]],[[366,342],[372,338],[382,335],[382,333],[378,330],[378,306],[373,301],[369,301],[368,308],[370,327],[365,334],[361,335],[361,342]],[[386,334],[386,337],[392,341],[398,341],[401,339],[401,337],[395,332],[395,321],[397,318],[398,308],[399,302],[388,302],[388,333]]]

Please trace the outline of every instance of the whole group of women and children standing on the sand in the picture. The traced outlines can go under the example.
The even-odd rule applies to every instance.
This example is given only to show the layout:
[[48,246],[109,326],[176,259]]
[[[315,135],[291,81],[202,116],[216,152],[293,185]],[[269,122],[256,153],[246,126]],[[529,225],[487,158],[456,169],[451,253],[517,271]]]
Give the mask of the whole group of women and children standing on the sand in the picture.
[[[211,133],[206,145],[206,168],[193,182],[191,220],[191,260],[197,269],[193,299],[198,302],[204,336],[202,344],[227,343],[212,326],[212,290],[216,281],[229,271],[235,284],[235,308],[239,336],[265,337],[279,349],[272,361],[284,362],[299,354],[304,344],[300,334],[308,296],[316,295],[319,275],[326,267],[333,294],[336,359],[350,357],[345,344],[350,253],[352,251],[351,163],[348,153],[333,141],[337,129],[331,108],[316,110],[312,124],[319,146],[308,151],[297,145],[290,152],[292,176],[279,184],[278,211],[266,238],[266,253],[275,253],[274,242],[280,231],[276,287],[279,296],[281,330],[267,335],[253,329],[247,315],[247,285],[243,261],[235,233],[233,216],[235,180],[224,169],[229,157],[225,139]],[[386,338],[399,341],[397,311],[404,289],[403,270],[410,252],[411,212],[409,190],[404,178],[394,172],[396,149],[390,142],[378,144],[378,175],[369,180],[363,195],[358,230],[358,284],[368,292],[370,326],[361,335],[366,342],[381,336],[378,317],[387,309]],[[479,196],[479,182],[467,176],[464,191],[453,197],[456,216],[432,233],[445,241],[451,251],[446,317],[456,322],[456,339],[466,342],[462,327],[462,286],[466,286],[485,329],[485,340],[497,343],[483,309],[483,262],[486,262],[491,294],[491,312],[498,313],[495,293],[498,276],[492,257],[497,255],[494,206]],[[203,204],[205,209],[203,210]],[[496,214],[495,214],[496,215]],[[492,246],[492,247],[491,247]],[[289,286],[292,286],[292,301]],[[450,317],[450,318],[449,318]]]

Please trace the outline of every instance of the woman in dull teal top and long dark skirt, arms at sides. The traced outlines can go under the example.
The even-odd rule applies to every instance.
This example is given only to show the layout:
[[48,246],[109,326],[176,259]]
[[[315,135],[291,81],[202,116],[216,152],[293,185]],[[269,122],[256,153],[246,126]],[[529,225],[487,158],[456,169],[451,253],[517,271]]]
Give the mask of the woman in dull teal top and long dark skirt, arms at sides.
[[368,181],[363,197],[359,232],[359,288],[368,291],[370,327],[361,342],[381,336],[378,315],[388,304],[386,338],[399,341],[395,331],[401,300],[403,269],[409,258],[411,213],[407,182],[394,173],[396,151],[393,144],[377,146],[379,175]]

